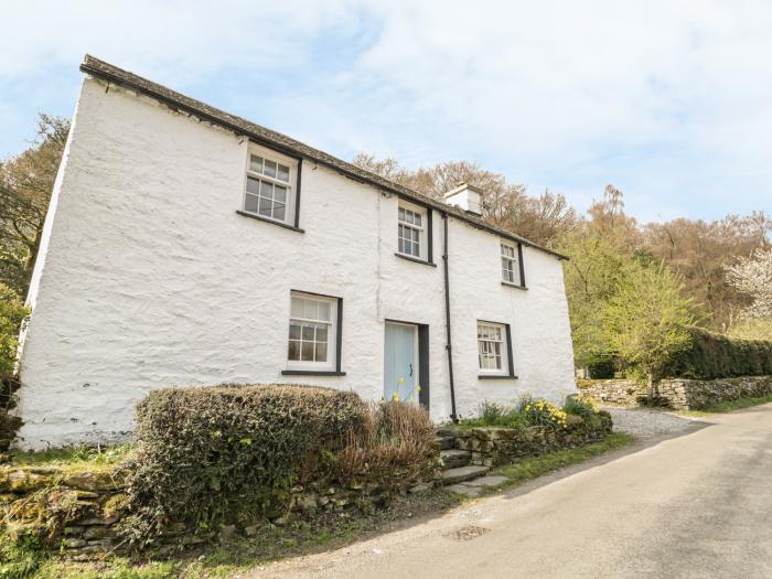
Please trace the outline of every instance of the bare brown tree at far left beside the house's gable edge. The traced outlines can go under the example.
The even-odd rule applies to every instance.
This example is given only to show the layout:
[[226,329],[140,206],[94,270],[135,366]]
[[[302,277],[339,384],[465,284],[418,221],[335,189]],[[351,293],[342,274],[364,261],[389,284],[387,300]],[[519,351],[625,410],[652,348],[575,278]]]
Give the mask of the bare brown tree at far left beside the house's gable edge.
[[41,115],[37,138],[0,162],[0,282],[26,293],[69,121]]

